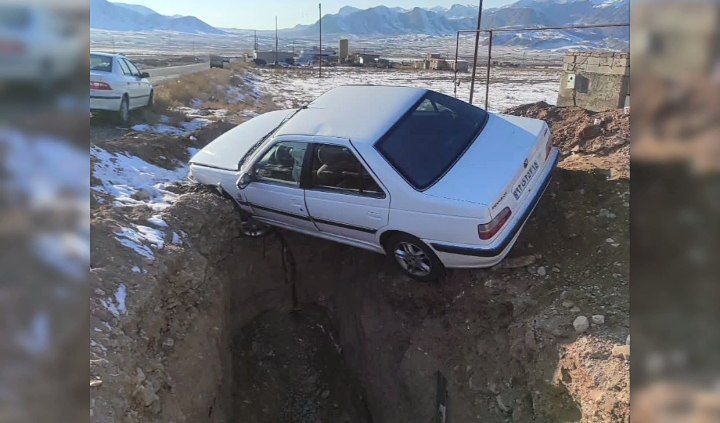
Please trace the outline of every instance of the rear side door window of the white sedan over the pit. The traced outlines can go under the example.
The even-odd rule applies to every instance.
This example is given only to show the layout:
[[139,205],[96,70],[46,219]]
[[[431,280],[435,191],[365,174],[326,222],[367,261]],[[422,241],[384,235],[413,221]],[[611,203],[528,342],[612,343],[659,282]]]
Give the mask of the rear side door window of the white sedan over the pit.
[[312,159],[310,188],[384,197],[385,193],[349,148],[318,144]]

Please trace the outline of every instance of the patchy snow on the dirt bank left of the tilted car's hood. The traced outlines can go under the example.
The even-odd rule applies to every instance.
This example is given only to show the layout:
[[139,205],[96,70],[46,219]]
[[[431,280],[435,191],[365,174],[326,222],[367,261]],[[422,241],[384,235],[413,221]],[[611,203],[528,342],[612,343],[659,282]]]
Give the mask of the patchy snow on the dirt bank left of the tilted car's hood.
[[[195,151],[190,149],[190,155]],[[93,177],[100,182],[92,190],[110,195],[119,207],[146,205],[153,210],[164,210],[178,197],[167,187],[185,179],[188,173],[185,163],[176,169],[165,169],[139,157],[110,153],[97,146],[90,149],[90,156],[94,161]]]

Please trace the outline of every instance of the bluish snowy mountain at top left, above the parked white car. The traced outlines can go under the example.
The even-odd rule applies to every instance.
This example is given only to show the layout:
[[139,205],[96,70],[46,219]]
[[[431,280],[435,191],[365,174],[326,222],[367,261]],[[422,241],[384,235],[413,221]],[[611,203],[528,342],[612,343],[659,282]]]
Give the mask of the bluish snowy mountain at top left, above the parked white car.
[[113,31],[176,31],[190,34],[224,34],[194,16],[165,16],[136,4],[90,0],[90,28]]

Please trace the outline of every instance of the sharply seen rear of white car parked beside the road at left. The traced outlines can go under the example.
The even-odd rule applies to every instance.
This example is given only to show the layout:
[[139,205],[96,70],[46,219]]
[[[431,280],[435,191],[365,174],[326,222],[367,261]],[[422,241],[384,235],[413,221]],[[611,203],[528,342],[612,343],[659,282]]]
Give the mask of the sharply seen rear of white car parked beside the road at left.
[[148,77],[125,56],[90,53],[90,110],[115,112],[127,123],[131,110],[153,104]]

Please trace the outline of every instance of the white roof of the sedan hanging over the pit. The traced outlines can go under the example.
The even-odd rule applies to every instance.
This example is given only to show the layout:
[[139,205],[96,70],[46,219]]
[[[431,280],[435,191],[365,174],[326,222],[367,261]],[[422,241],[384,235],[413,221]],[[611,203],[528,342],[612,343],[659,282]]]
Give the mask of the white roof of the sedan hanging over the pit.
[[426,92],[384,85],[333,88],[285,122],[275,136],[328,136],[374,143]]

